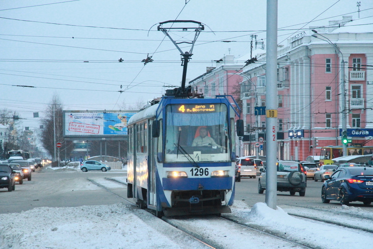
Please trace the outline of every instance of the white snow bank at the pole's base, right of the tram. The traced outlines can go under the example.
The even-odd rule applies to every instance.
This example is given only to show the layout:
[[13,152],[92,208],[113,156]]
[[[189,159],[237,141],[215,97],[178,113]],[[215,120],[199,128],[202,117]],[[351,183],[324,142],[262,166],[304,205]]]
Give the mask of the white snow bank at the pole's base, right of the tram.
[[[352,214],[359,208],[345,206],[344,209],[348,209],[348,212]],[[233,206],[232,214],[236,218],[239,217],[240,222],[271,231],[272,234],[313,248],[340,249],[346,248],[346,245],[354,245],[357,241],[361,248],[370,248],[373,244],[371,233],[349,230],[338,225],[330,225],[318,221],[302,220],[288,215],[279,207],[277,207],[277,210],[271,209],[266,203],[256,203],[249,210]],[[228,216],[232,218],[232,216]],[[330,215],[329,218],[333,219],[333,216]],[[349,221],[346,220],[345,222]]]

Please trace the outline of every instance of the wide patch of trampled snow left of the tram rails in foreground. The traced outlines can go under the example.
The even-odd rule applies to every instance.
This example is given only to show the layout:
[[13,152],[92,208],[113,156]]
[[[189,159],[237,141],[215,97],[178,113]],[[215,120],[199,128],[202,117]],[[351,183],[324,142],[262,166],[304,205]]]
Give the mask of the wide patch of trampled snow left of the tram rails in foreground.
[[[145,224],[138,217],[141,212],[145,211],[118,203],[75,208],[42,207],[1,214],[0,248],[180,248]],[[148,219],[157,219],[151,214],[148,216]]]

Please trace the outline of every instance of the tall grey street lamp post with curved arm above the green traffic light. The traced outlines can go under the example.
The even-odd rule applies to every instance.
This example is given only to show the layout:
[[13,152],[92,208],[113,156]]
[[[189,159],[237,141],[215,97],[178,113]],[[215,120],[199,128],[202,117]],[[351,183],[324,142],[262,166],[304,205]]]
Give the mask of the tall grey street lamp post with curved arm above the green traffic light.
[[[312,32],[314,33],[317,33],[317,31],[315,29],[312,29]],[[341,61],[341,78],[342,78],[342,81],[341,81],[341,88],[342,88],[342,103],[341,103],[341,112],[342,112],[342,133],[344,131],[347,131],[347,108],[346,108],[346,81],[345,81],[345,60],[343,58],[343,54],[341,52],[341,50],[338,49],[338,47],[332,43],[332,41],[330,41],[327,37],[317,33],[318,35],[324,37],[326,40],[320,38],[320,37],[317,37],[317,35],[312,35],[313,37],[315,38],[318,38],[320,40],[323,40],[323,41],[326,41],[327,43],[329,43],[330,45],[332,45],[339,53],[341,53],[341,57],[342,57],[342,61]],[[343,156],[347,156],[347,143],[342,143],[342,147],[343,147]]]

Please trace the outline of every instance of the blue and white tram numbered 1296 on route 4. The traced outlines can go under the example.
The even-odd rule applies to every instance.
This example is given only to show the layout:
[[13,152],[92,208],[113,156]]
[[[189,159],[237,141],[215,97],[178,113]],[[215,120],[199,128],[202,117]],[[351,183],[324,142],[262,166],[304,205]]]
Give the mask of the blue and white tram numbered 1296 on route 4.
[[[231,212],[238,113],[226,96],[217,97],[164,96],[129,119],[128,198],[157,216]],[[196,146],[202,127],[210,143]]]

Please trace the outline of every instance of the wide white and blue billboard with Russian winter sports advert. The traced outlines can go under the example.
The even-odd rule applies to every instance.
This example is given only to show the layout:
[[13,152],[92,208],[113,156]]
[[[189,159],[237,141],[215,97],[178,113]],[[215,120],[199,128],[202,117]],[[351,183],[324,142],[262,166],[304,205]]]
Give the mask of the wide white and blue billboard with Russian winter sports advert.
[[63,135],[66,137],[126,136],[127,121],[137,111],[64,111]]

